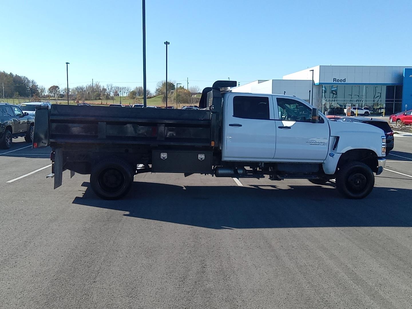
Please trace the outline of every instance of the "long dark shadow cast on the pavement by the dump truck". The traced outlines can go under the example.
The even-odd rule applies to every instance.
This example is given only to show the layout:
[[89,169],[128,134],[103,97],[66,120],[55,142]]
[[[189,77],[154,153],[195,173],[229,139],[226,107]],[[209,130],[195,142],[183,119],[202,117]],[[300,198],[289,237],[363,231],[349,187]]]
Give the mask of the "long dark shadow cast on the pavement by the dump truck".
[[73,204],[127,211],[126,216],[211,229],[412,227],[412,190],[375,187],[362,200],[332,187],[276,185],[178,186],[134,182],[118,201],[96,197],[89,183]]

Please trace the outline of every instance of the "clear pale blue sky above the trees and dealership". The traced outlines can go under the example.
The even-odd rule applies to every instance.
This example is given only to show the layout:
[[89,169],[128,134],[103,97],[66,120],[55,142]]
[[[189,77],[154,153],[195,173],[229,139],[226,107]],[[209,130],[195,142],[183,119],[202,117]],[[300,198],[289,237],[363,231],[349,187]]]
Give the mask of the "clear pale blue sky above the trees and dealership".
[[[141,9],[140,0],[3,0],[0,70],[65,87],[68,61],[69,87],[142,85]],[[165,79],[166,40],[169,80],[201,88],[318,64],[411,66],[411,12],[410,0],[146,0],[147,87]]]

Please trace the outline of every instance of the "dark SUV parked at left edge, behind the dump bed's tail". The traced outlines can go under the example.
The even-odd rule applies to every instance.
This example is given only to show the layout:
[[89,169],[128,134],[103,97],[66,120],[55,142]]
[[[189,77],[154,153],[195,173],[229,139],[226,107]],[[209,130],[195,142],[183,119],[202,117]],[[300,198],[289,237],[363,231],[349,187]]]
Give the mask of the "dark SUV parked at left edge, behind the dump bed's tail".
[[12,138],[24,136],[33,141],[34,118],[22,112],[17,105],[0,103],[0,148],[9,149]]

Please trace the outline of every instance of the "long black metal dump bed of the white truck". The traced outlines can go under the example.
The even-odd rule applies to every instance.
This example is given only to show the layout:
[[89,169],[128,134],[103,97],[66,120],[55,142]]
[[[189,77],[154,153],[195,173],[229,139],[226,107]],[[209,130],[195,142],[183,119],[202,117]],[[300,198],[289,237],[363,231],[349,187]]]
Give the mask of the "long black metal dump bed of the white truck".
[[[35,135],[43,140],[48,135],[48,142],[38,147],[67,143],[210,146],[210,119],[209,110],[52,105],[50,111],[36,111]],[[42,134],[46,129],[48,134]]]

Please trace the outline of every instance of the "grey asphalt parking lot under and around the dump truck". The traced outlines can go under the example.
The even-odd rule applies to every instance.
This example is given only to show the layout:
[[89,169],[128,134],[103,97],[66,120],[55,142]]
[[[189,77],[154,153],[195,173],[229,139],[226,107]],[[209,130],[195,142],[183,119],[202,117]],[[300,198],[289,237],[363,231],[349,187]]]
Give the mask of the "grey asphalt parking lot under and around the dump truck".
[[410,308],[412,137],[363,200],[307,180],[142,174],[120,201],[53,190],[0,150],[0,308]]

